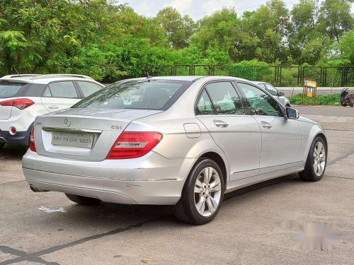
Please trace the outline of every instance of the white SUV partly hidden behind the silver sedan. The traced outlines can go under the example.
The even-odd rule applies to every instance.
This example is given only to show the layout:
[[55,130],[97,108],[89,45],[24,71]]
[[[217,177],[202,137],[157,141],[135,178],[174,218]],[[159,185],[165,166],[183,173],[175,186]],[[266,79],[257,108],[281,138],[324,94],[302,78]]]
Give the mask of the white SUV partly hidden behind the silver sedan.
[[0,149],[28,146],[35,117],[72,107],[104,86],[89,76],[23,74],[0,78]]

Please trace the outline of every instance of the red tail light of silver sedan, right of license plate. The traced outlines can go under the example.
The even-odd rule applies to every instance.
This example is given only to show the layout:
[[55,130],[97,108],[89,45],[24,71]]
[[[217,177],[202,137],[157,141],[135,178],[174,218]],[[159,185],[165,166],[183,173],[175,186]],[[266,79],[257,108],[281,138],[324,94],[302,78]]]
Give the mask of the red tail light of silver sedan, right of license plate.
[[162,139],[156,131],[123,131],[108,153],[107,159],[139,158],[146,155]]

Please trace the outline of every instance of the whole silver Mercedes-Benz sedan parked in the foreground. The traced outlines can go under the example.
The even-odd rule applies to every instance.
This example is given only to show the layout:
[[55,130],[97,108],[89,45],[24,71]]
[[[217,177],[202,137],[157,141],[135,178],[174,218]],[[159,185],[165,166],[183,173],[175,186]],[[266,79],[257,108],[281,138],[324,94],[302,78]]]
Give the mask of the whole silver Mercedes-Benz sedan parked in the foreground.
[[227,192],[326,169],[321,125],[251,81],[223,76],[137,78],[35,120],[23,172],[33,192],[78,204],[175,205],[210,222]]

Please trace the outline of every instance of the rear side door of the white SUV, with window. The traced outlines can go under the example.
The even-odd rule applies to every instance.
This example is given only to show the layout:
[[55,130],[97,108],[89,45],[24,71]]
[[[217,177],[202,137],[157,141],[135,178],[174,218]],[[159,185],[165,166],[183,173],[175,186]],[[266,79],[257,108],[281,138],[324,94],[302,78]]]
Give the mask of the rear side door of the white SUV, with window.
[[72,107],[80,97],[73,81],[57,81],[48,84],[41,100],[49,112],[56,112]]

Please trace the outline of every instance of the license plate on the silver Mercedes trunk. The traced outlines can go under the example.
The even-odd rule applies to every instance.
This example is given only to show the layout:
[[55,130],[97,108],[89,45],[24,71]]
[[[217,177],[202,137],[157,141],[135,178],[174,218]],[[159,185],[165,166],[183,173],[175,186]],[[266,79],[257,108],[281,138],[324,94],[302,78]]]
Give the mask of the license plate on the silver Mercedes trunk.
[[76,132],[52,132],[52,145],[73,146],[81,148],[92,148],[93,134],[82,134]]

